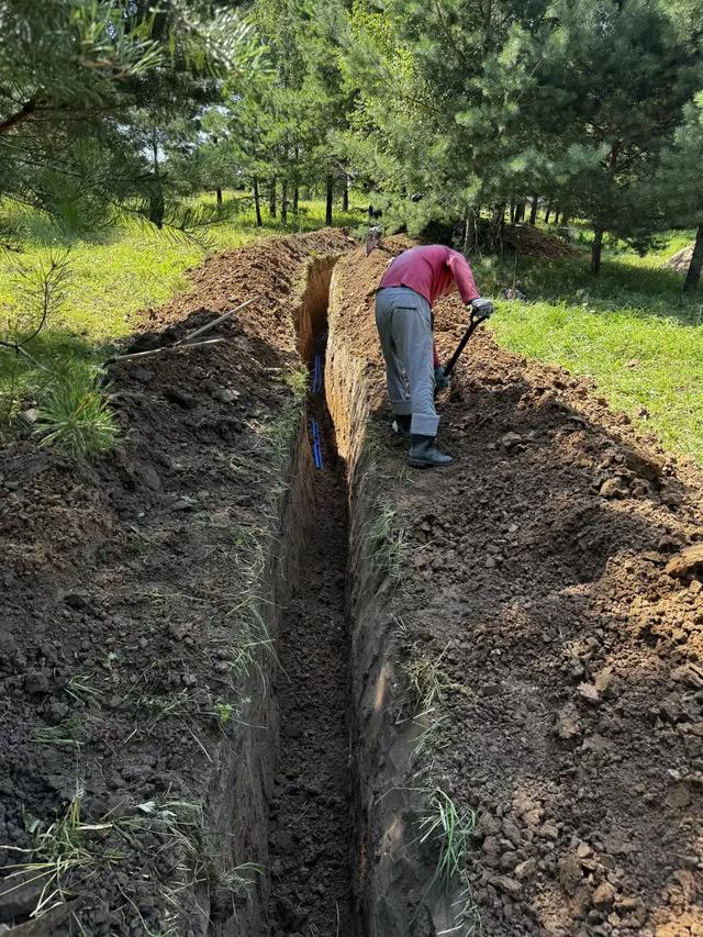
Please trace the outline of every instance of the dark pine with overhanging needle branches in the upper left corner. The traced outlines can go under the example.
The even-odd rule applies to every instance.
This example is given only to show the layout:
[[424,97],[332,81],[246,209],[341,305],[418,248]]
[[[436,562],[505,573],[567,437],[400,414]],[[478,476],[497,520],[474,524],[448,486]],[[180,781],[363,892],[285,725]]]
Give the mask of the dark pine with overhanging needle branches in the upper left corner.
[[0,0],[5,242],[21,235],[10,222],[18,203],[79,232],[125,207],[163,220],[165,179],[155,164],[165,124],[192,116],[216,93],[216,74],[253,67],[257,49],[235,10],[203,18],[186,0],[150,8]]

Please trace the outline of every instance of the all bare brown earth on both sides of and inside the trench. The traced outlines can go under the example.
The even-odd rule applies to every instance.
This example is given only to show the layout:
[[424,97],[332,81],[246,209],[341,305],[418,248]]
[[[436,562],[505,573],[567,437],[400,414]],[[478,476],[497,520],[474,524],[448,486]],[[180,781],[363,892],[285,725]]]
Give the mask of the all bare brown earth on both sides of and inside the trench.
[[[421,913],[437,790],[470,830],[451,933],[703,934],[698,550],[666,571],[703,543],[700,471],[486,332],[439,403],[455,464],[409,471],[372,320],[390,257],[356,250],[327,358],[348,654],[346,491],[334,459],[313,484],[286,380],[324,328],[324,258],[348,248],[322,232],[194,271],[135,347],[265,299],[226,343],[113,368],[114,457],[2,453],[5,872],[37,835],[54,869],[70,857],[76,904],[43,934],[347,937],[350,755],[359,937],[454,926]],[[444,356],[465,317],[438,303]],[[0,923],[37,897],[0,884]]]

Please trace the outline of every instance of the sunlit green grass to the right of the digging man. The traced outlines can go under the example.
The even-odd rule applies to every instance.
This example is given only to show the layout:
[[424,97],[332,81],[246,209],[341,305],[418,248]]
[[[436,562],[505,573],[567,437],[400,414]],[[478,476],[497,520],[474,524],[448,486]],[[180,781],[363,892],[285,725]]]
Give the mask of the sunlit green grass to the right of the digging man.
[[[518,259],[527,302],[496,304],[491,327],[517,354],[592,377],[615,410],[669,449],[703,462],[703,288],[690,298],[681,274],[662,261],[693,234],[662,238],[645,257],[621,245],[593,279],[588,257]],[[513,266],[477,269],[486,292],[513,279]]]

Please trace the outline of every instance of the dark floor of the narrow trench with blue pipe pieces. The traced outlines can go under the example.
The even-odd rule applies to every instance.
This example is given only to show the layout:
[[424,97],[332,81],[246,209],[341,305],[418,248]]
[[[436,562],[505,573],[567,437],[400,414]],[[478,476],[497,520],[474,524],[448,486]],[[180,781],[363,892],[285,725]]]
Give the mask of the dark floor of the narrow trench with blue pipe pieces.
[[[324,361],[331,263],[311,270],[299,323],[303,360]],[[324,380],[308,400],[323,468],[301,532],[300,571],[282,610],[278,655],[280,743],[270,804],[270,937],[352,937],[349,650],[345,614],[347,487]]]

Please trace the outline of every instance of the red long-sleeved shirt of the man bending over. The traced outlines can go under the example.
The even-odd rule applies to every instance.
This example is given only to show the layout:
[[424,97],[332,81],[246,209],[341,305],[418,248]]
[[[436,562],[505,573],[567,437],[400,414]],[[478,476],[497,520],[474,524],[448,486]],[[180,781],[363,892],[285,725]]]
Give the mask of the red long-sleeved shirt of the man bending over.
[[458,250],[432,244],[411,247],[397,257],[381,280],[384,287],[408,287],[424,297],[429,305],[449,292],[456,282],[464,302],[480,297],[466,257]]

